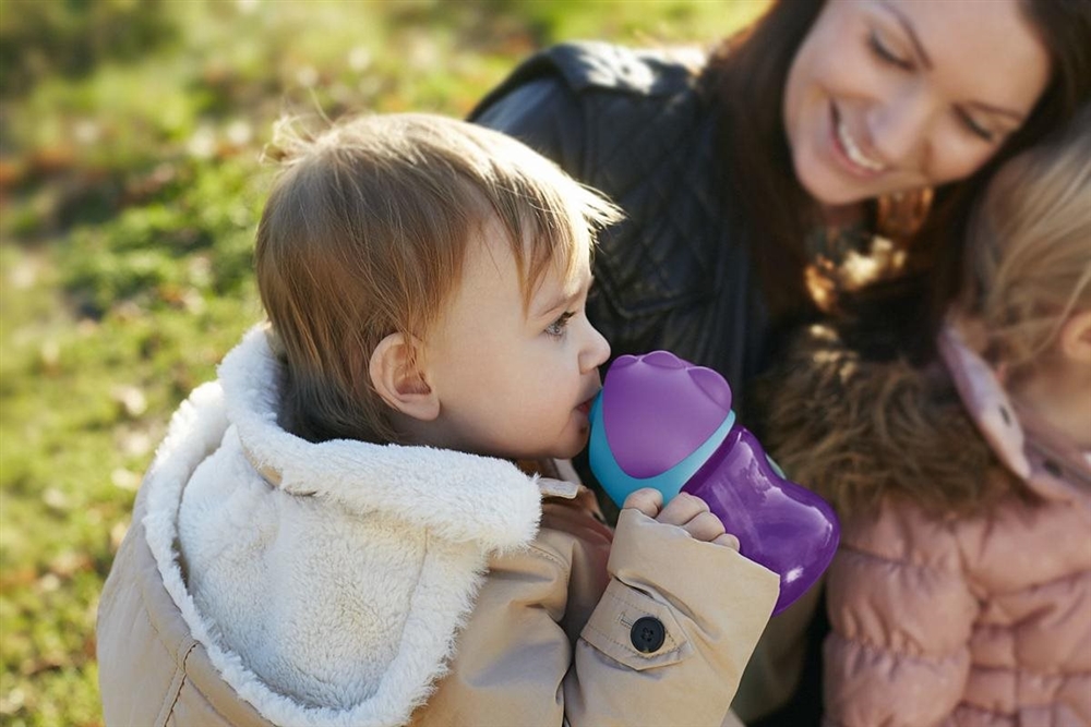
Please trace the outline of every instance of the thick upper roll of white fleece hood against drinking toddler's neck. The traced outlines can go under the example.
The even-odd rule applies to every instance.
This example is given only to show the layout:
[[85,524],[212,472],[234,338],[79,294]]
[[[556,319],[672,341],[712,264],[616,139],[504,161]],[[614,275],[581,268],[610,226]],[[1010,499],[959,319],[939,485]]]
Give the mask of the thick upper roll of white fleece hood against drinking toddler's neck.
[[[279,363],[263,327],[219,366],[228,420],[247,458],[274,486],[381,511],[452,542],[487,549],[529,542],[541,514],[538,478],[513,463],[429,447],[337,439],[314,444],[277,424]],[[443,483],[437,486],[437,483]]]

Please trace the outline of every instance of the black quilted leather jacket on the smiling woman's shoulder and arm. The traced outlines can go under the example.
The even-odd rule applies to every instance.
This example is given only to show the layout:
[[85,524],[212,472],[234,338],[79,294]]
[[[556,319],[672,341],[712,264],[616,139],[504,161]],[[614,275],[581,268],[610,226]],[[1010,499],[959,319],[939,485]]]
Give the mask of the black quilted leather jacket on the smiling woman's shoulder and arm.
[[693,66],[662,51],[559,45],[519,65],[470,120],[523,140],[625,210],[600,235],[588,301],[613,355],[672,351],[723,374],[738,402],[765,367],[769,323],[742,201],[723,193],[723,120]]

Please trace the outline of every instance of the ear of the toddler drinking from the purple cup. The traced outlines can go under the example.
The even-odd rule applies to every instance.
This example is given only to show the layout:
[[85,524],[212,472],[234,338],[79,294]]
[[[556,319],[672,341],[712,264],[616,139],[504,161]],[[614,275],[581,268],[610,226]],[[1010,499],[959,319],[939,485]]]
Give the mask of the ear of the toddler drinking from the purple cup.
[[440,399],[413,365],[421,342],[391,334],[371,352],[371,384],[387,404],[413,419],[430,422],[440,415]]

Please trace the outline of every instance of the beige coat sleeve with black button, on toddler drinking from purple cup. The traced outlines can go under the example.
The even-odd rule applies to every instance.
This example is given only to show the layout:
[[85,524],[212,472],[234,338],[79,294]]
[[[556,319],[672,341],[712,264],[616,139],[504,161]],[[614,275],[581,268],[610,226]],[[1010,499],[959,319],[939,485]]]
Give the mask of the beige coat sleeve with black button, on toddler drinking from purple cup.
[[418,724],[721,725],[777,575],[624,510],[606,591],[570,637],[584,617],[567,613],[565,547],[540,538],[494,564]]

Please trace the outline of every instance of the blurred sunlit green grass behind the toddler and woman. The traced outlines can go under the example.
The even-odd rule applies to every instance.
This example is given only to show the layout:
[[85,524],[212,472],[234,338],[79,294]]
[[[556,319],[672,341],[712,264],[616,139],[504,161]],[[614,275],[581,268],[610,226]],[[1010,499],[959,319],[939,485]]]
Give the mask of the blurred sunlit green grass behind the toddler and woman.
[[284,113],[464,116],[561,39],[763,0],[0,0],[0,724],[98,725],[98,593],[166,421],[261,310]]

